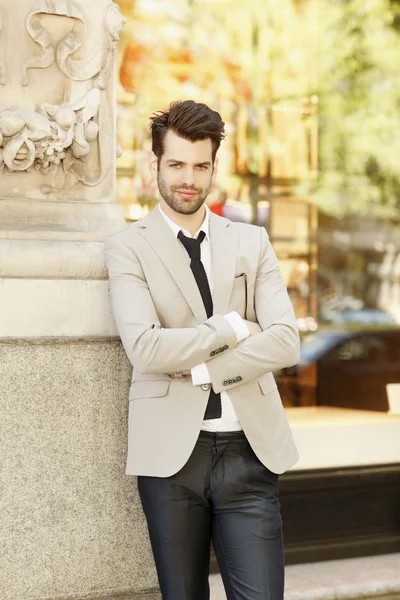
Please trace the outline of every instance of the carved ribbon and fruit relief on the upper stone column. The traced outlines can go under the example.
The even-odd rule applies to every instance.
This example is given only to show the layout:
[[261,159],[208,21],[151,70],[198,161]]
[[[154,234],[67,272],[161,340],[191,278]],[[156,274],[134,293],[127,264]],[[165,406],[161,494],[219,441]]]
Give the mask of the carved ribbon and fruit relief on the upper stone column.
[[[41,15],[63,16],[74,21],[72,30],[56,47],[40,21]],[[115,46],[125,22],[118,6],[110,0],[104,19],[105,43],[95,49],[90,59],[78,60],[73,55],[86,39],[86,21],[80,8],[71,0],[35,2],[27,16],[26,27],[42,53],[25,62],[22,84],[29,85],[30,69],[46,69],[56,62],[66,76],[64,102],[42,103],[36,111],[6,108],[0,112],[0,175],[4,171],[36,170],[49,176],[41,186],[43,194],[69,190],[78,181],[95,186],[104,179],[107,166],[103,158],[104,153],[109,152],[109,143],[106,138],[102,139],[99,116]],[[0,12],[0,35],[2,27]],[[87,82],[91,87],[77,101],[71,102],[68,81]],[[0,83],[6,84],[2,63]]]

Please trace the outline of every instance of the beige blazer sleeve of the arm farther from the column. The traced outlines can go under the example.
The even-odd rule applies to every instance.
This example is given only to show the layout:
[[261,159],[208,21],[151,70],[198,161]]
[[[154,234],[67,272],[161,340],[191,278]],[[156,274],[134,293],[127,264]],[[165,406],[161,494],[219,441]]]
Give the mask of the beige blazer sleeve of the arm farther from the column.
[[[278,259],[267,232],[264,228],[260,228],[260,232],[261,252],[254,303],[262,331],[207,362],[210,379],[217,393],[229,391],[266,372],[293,366],[300,358],[297,322],[282,281]],[[233,379],[235,382],[232,382]]]

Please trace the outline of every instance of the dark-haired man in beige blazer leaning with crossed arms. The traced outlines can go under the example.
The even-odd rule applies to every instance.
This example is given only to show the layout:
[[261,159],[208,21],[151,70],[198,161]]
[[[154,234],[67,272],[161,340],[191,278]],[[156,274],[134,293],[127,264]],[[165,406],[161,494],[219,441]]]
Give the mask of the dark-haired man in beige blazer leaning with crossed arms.
[[134,367],[126,473],[164,600],[209,598],[211,539],[228,600],[282,600],[278,474],[298,455],[271,371],[298,361],[296,320],[266,231],[205,205],[220,115],[178,102],[151,130],[160,203],[106,242]]

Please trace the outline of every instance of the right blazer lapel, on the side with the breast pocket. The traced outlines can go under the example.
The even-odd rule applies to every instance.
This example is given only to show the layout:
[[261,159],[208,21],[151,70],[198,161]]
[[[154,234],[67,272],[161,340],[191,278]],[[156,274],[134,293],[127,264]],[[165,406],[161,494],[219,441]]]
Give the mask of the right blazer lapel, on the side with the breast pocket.
[[232,293],[237,258],[237,233],[231,222],[210,214],[211,256],[214,279],[214,314],[226,314]]

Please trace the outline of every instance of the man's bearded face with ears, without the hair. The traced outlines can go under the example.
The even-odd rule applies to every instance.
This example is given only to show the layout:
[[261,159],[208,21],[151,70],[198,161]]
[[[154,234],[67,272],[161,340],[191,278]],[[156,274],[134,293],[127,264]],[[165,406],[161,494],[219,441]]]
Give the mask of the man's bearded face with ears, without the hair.
[[157,163],[157,157],[152,154],[150,169],[157,176],[158,189],[168,206],[185,215],[197,212],[216,176],[210,138],[190,142],[168,131],[164,154]]

